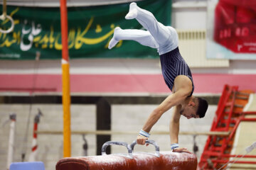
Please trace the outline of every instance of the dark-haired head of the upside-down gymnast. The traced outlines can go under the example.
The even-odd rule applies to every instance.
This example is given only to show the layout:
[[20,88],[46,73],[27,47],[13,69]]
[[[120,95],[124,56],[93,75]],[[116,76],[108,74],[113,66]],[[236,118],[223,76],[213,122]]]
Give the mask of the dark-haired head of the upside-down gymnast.
[[191,96],[186,106],[181,108],[181,115],[186,118],[203,118],[208,109],[208,102],[204,98]]

